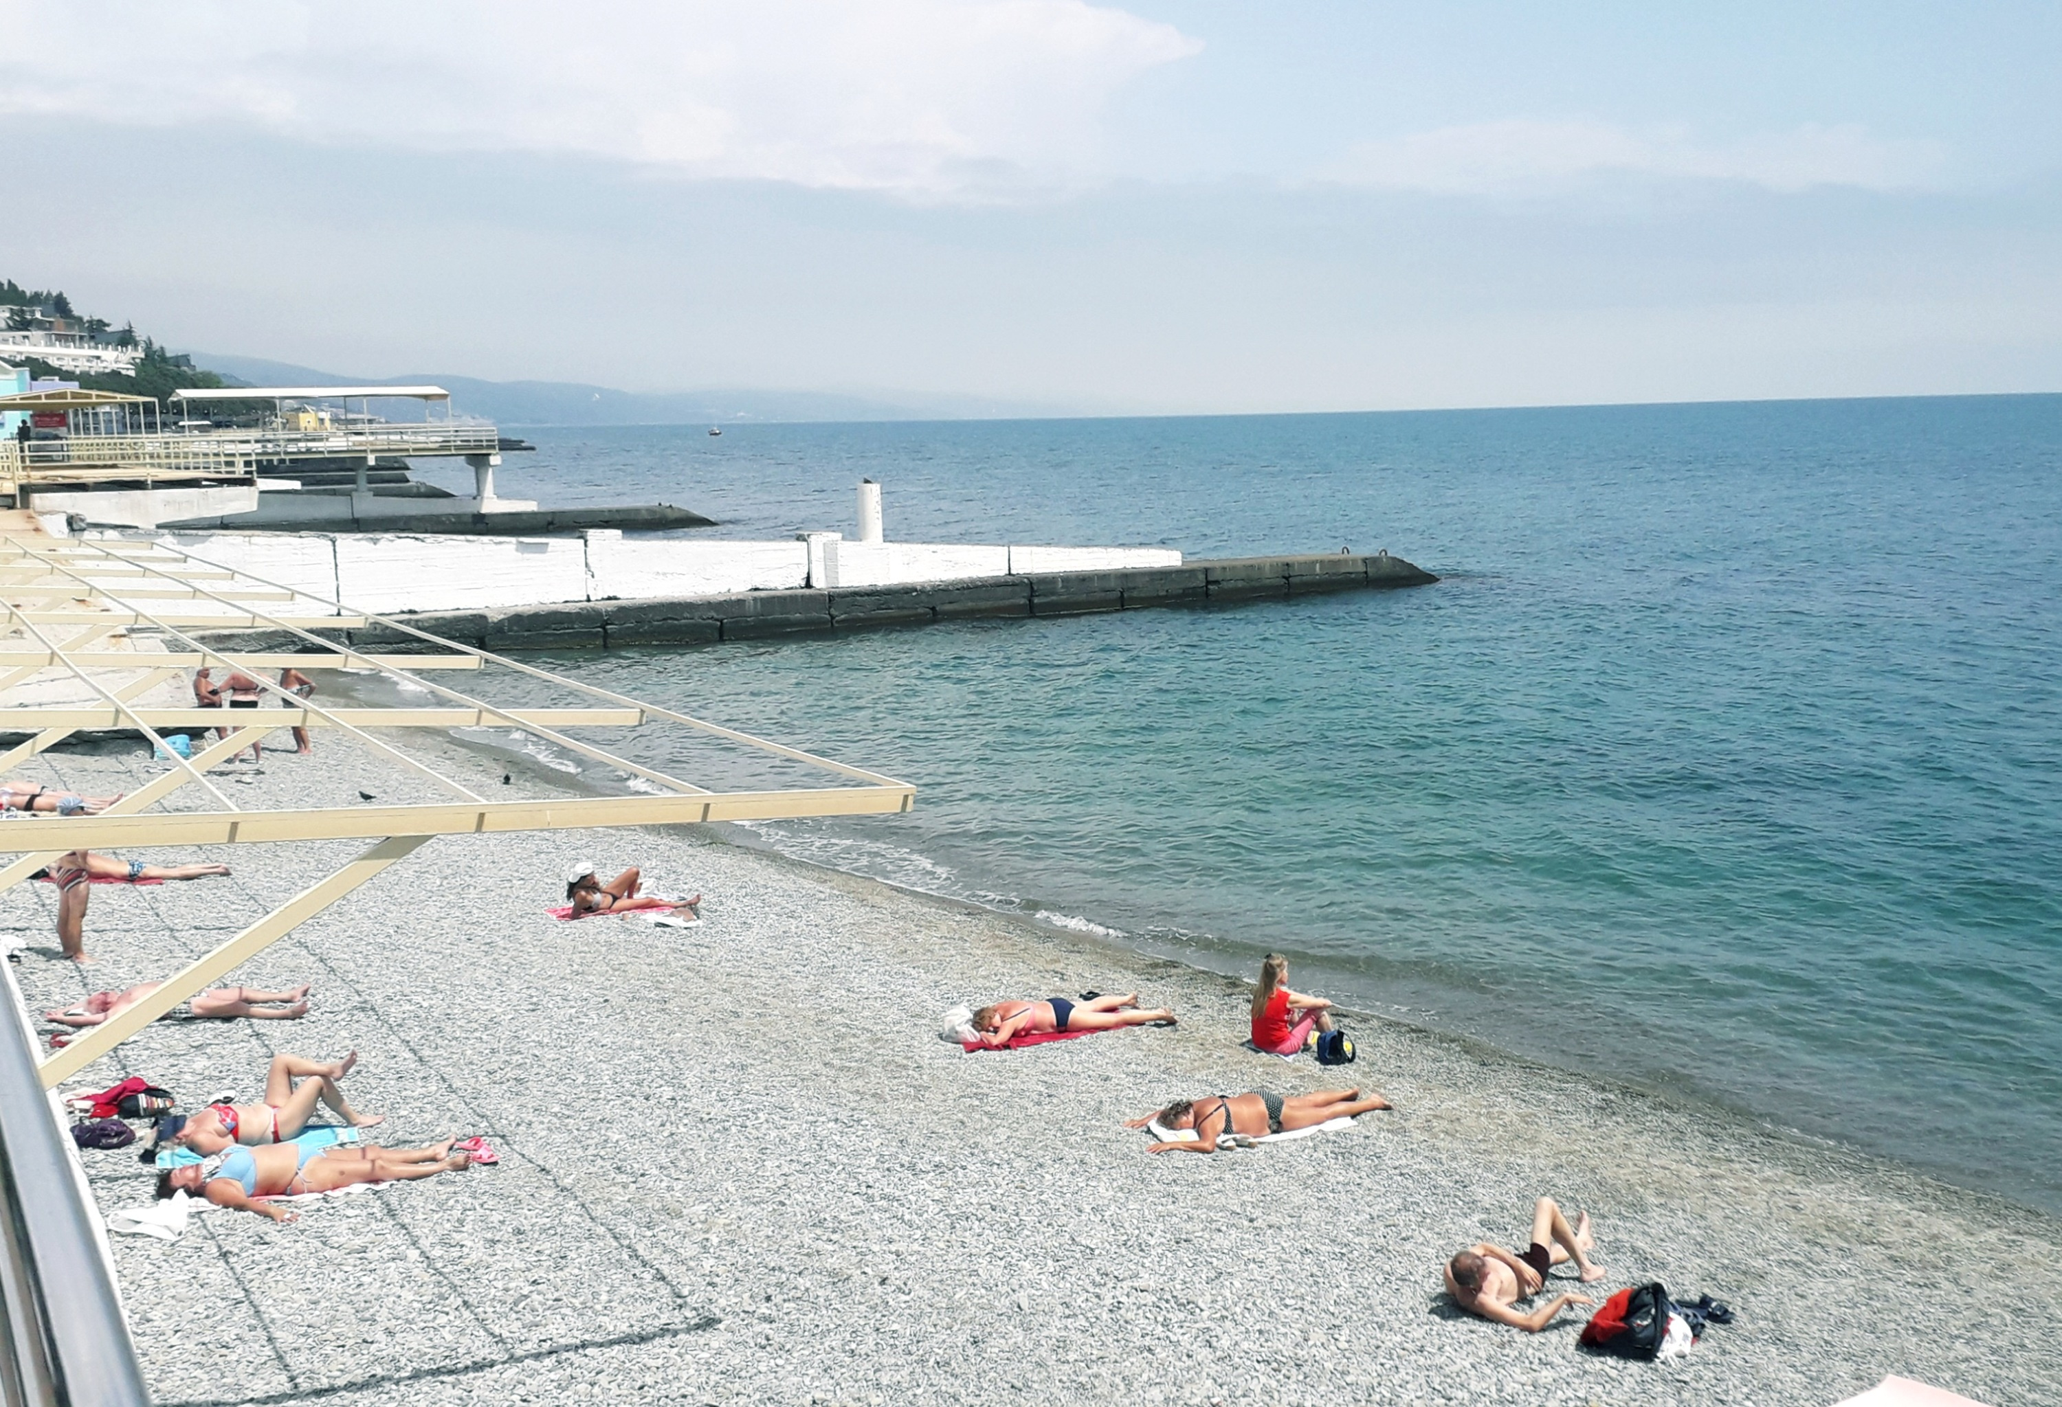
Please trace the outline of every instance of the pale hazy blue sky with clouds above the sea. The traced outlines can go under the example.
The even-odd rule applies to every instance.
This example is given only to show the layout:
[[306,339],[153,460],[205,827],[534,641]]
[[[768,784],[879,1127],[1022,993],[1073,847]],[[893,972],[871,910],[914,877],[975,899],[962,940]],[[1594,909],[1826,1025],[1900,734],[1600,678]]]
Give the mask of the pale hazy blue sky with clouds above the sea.
[[365,375],[2052,391],[2058,72],[2052,2],[0,0],[0,276]]

